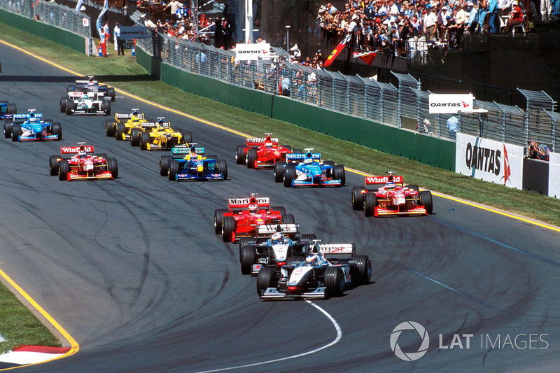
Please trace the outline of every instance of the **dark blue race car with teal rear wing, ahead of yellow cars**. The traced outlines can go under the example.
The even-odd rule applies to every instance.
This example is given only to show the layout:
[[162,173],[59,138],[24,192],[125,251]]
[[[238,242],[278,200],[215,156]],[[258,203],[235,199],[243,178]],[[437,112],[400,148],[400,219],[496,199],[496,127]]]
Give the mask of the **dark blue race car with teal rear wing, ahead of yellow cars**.
[[[193,144],[191,144],[193,145]],[[204,148],[176,146],[172,155],[160,157],[160,175],[174,181],[227,180],[228,164],[215,155],[204,156]]]

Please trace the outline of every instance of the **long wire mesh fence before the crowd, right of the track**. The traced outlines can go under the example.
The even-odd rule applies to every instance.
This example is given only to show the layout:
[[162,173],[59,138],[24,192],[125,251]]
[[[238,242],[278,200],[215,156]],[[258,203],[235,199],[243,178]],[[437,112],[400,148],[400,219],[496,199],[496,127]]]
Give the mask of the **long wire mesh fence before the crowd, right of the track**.
[[[132,19],[144,24],[139,13]],[[429,136],[454,139],[447,120],[458,119],[459,130],[472,136],[526,146],[528,140],[546,143],[554,151],[560,145],[556,131],[559,115],[556,102],[545,92],[519,90],[526,97],[526,107],[475,100],[475,108],[486,113],[430,114],[430,91],[421,90],[420,80],[409,74],[392,73],[397,87],[361,76],[311,69],[288,62],[288,53],[272,48],[272,60],[235,62],[235,52],[202,43],[183,41],[153,33],[153,38],[139,40],[140,48],[162,62],[190,73],[224,82],[283,94],[346,115],[366,118],[385,125],[416,130]]]

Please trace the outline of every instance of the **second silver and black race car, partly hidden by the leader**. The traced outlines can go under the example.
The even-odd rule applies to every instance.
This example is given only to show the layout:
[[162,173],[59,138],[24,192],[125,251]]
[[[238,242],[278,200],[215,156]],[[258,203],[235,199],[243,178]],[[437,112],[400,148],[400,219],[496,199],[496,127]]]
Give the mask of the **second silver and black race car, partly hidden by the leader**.
[[299,224],[258,225],[254,240],[239,241],[241,273],[256,276],[260,269],[299,264],[307,254],[307,244],[315,234],[302,234]]

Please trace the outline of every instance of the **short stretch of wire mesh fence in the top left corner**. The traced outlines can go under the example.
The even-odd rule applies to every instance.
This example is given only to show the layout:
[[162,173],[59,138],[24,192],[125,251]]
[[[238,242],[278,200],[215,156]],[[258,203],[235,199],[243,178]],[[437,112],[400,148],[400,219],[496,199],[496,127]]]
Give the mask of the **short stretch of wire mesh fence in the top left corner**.
[[[68,6],[43,0],[0,0],[0,8],[30,20],[65,29],[87,39],[92,37],[90,17]],[[84,19],[87,19],[86,26],[84,26]]]

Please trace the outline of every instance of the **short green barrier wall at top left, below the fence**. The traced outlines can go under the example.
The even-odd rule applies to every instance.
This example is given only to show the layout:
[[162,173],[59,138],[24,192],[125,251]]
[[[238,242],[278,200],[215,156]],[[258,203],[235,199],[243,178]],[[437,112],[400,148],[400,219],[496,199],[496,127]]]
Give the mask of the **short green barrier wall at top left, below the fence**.
[[7,12],[0,9],[0,22],[9,24],[22,31],[29,32],[41,38],[45,38],[55,43],[64,45],[65,47],[76,50],[80,53],[85,53],[85,38],[70,31],[59,29],[58,27],[44,24],[38,21],[29,20],[29,18],[22,17],[21,15]]

